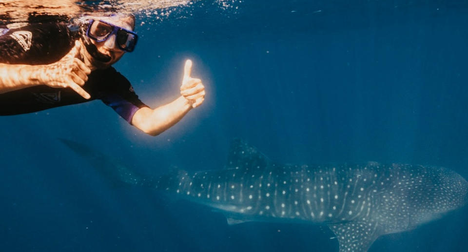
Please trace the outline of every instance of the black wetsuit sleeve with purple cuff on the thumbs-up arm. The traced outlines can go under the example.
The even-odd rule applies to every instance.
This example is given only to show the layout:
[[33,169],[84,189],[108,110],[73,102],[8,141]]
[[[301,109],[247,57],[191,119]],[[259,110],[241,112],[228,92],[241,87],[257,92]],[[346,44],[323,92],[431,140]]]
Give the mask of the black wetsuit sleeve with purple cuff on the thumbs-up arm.
[[148,107],[144,104],[135,94],[135,91],[123,75],[115,71],[112,71],[113,81],[109,84],[109,92],[101,97],[102,102],[107,106],[114,109],[118,115],[122,116],[130,124],[132,124],[132,118],[135,112],[143,107]]

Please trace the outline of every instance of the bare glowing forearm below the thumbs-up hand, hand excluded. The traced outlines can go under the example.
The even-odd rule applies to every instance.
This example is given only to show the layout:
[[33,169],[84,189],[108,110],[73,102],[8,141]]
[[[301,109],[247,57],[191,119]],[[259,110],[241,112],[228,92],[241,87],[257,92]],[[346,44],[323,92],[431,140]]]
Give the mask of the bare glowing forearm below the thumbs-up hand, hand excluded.
[[139,109],[132,118],[132,124],[149,135],[157,136],[180,121],[191,109],[192,104],[189,100],[178,97],[154,110]]

